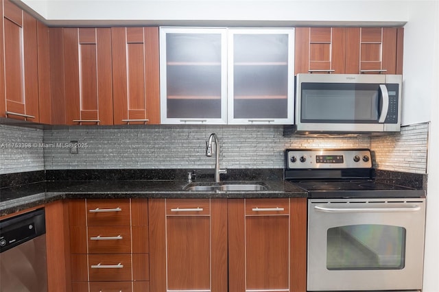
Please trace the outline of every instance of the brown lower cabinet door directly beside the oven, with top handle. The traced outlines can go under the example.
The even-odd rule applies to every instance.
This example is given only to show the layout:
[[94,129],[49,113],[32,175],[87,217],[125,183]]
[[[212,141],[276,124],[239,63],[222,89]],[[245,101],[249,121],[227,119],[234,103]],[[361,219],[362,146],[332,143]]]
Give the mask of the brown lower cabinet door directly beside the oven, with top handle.
[[296,200],[228,200],[230,291],[306,291],[306,199]]

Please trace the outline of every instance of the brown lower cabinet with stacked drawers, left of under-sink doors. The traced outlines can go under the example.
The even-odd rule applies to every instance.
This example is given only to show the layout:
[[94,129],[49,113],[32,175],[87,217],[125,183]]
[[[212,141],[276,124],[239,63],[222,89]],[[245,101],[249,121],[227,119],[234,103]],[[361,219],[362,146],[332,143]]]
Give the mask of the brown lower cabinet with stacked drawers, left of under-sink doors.
[[150,291],[147,199],[69,201],[71,288]]

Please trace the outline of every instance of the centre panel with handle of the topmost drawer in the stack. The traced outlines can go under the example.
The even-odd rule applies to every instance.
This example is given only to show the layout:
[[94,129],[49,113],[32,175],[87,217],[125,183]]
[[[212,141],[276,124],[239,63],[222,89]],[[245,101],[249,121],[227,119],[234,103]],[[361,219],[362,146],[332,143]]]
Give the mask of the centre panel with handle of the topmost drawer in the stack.
[[88,226],[130,226],[129,199],[89,199]]

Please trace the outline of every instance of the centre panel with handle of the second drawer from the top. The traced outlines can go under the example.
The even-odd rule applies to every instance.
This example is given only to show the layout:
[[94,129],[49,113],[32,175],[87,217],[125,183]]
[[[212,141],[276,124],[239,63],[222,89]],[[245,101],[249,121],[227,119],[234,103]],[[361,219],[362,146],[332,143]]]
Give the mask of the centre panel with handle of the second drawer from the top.
[[130,226],[88,227],[89,254],[129,254],[130,252]]

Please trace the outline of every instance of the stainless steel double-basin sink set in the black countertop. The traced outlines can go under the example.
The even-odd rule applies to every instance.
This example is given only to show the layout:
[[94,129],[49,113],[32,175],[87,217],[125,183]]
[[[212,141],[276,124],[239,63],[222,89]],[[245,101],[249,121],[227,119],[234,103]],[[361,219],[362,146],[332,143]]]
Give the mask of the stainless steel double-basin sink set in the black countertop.
[[267,186],[260,182],[242,183],[192,183],[183,187],[185,191],[205,191],[205,192],[233,192],[233,191],[266,191]]

